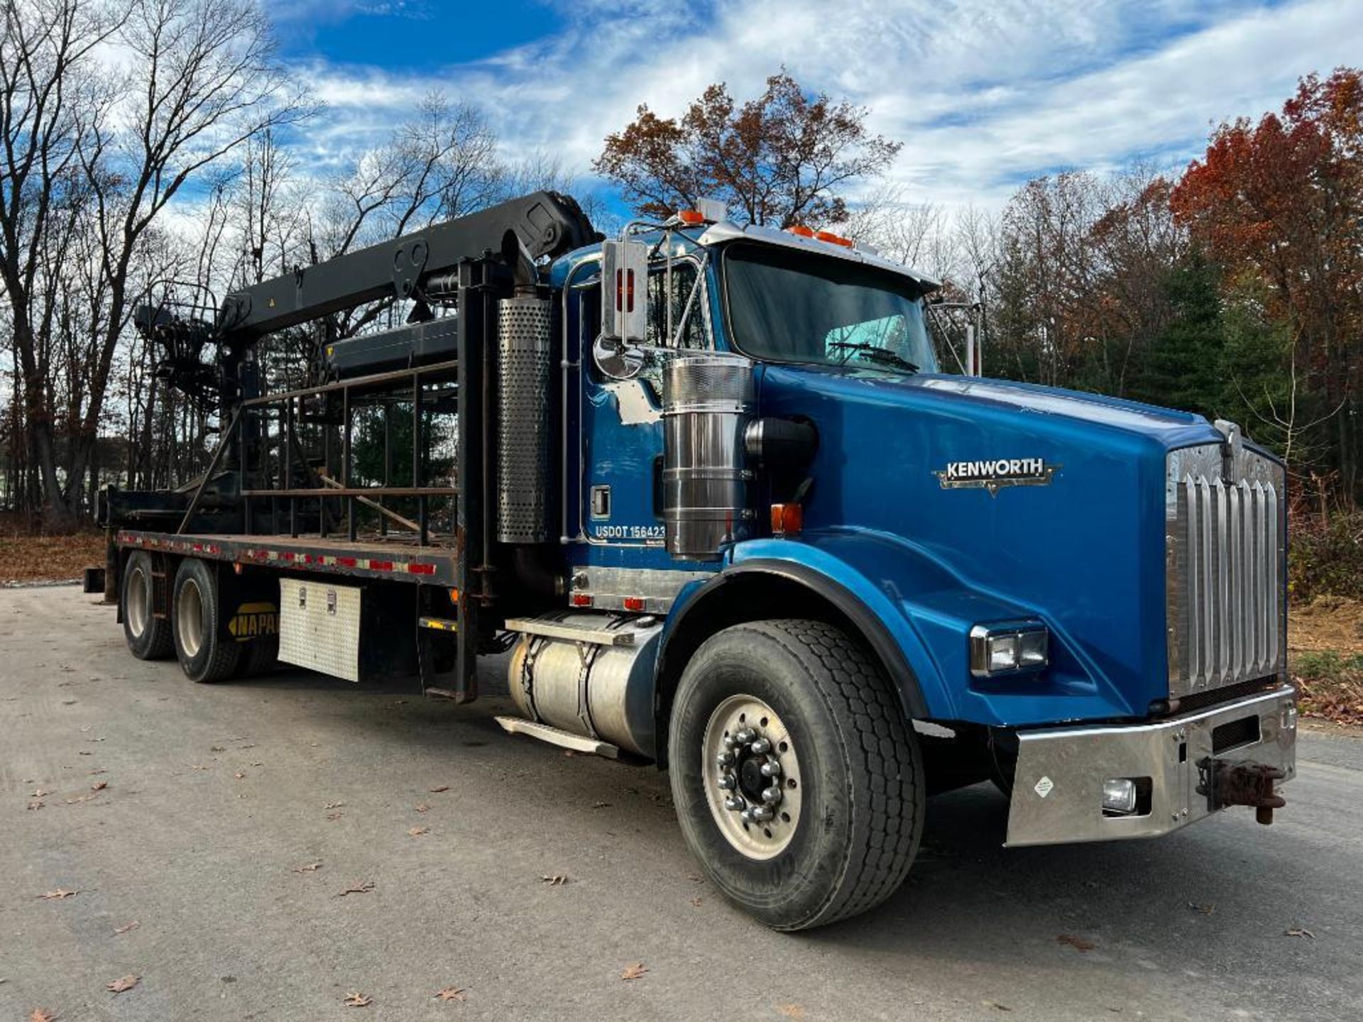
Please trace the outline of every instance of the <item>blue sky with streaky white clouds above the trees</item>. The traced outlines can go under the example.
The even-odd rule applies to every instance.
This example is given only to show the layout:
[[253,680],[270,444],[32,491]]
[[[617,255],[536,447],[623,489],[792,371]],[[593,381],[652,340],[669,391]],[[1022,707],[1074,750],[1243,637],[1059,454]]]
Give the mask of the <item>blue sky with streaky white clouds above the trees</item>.
[[1176,166],[1223,117],[1363,63],[1363,0],[275,0],[284,52],[327,110],[316,166],[436,89],[481,106],[510,158],[593,187],[639,102],[676,114],[714,80],[746,97],[785,64],[904,142],[909,199],[998,206],[1062,168]]

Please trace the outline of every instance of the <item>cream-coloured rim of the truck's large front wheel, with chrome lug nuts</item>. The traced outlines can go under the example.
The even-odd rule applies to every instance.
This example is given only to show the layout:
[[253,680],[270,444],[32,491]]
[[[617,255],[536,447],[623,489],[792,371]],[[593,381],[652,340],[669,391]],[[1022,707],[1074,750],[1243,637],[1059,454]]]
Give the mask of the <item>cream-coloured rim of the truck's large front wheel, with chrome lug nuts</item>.
[[785,724],[765,702],[731,695],[705,726],[701,777],[710,815],[748,858],[773,858],[800,824],[804,778]]

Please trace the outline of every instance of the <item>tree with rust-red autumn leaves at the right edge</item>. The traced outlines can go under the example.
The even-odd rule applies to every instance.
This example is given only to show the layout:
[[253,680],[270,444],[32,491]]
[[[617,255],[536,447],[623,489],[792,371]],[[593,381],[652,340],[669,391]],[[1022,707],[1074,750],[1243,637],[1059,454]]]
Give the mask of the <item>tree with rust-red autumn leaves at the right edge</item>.
[[[1363,72],[1308,75],[1281,113],[1221,124],[1175,187],[1179,221],[1268,296],[1287,324],[1318,463],[1356,501],[1363,484]],[[1337,473],[1337,476],[1336,476]]]

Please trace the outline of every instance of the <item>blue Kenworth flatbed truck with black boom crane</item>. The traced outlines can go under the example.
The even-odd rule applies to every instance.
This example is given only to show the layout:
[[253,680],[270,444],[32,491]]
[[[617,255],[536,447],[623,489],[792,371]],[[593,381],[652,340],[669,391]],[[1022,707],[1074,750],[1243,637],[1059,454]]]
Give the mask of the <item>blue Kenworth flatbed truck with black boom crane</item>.
[[[893,894],[964,785],[1006,793],[1009,845],[1269,823],[1283,463],[940,372],[938,286],[710,202],[602,238],[538,192],[221,303],[153,289],[136,327],[218,442],[102,492],[90,585],[194,681],[468,702],[508,653],[506,730],[667,769],[706,876],[778,929]],[[342,335],[358,307],[395,326]]]

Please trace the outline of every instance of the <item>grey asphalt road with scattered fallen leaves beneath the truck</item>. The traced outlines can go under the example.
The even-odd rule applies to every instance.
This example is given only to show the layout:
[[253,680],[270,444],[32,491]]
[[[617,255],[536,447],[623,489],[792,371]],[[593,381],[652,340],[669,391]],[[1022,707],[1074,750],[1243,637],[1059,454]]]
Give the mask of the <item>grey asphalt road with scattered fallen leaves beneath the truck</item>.
[[1302,736],[1272,827],[1005,850],[1000,796],[942,796],[895,898],[785,936],[699,882],[652,767],[495,700],[194,685],[93,601],[0,590],[0,1019],[1363,1015],[1352,734]]

